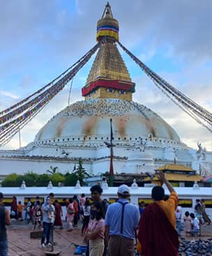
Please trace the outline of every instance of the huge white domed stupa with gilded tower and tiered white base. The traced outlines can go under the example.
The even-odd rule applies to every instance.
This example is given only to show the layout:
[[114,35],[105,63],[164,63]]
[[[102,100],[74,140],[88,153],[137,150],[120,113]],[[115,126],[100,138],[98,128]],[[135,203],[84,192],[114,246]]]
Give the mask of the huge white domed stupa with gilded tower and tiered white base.
[[181,142],[174,128],[158,114],[132,100],[136,85],[116,45],[119,22],[109,3],[98,21],[96,40],[103,43],[82,88],[84,100],[53,116],[24,148],[0,151],[1,174],[43,173],[50,166],[68,172],[79,157],[91,175],[108,172],[110,119],[114,173],[151,173],[174,159],[197,170],[195,149]]

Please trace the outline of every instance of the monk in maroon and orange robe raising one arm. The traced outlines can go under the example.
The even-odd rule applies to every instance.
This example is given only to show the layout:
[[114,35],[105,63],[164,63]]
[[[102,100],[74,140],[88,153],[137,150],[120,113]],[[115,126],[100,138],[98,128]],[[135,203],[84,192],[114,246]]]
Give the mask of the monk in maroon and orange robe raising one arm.
[[165,201],[162,187],[156,186],[152,189],[151,197],[154,202],[145,208],[139,223],[139,253],[142,256],[177,256],[179,236],[175,229],[174,211],[178,205],[178,196],[163,172],[158,177],[165,183],[171,195]]

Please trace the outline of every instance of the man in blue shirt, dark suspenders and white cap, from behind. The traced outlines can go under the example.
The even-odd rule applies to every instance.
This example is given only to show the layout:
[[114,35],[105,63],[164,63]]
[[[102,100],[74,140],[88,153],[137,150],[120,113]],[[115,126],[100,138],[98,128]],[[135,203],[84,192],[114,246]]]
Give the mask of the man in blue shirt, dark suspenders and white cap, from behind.
[[135,230],[139,224],[139,209],[129,204],[130,188],[119,186],[118,201],[108,206],[105,217],[105,239],[108,256],[133,256]]

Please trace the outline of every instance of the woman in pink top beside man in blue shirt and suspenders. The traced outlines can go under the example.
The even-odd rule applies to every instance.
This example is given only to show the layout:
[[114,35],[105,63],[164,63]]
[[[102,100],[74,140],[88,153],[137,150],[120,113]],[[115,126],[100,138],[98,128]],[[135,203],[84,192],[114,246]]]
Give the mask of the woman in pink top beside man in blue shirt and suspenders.
[[102,256],[104,252],[105,220],[101,202],[94,201],[91,205],[91,217],[89,227],[84,234],[85,239],[89,239],[89,255]]

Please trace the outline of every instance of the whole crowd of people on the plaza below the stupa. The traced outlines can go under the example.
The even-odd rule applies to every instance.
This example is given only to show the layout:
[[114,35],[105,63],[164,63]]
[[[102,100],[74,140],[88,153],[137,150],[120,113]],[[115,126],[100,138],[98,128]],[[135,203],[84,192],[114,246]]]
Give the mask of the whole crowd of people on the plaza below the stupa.
[[[10,225],[10,219],[15,218],[32,223],[33,229],[43,229],[42,248],[52,246],[53,227],[66,228],[67,232],[71,232],[82,220],[80,231],[87,245],[86,255],[132,256],[136,248],[142,256],[177,256],[182,224],[185,235],[192,236],[198,234],[199,225],[209,225],[211,220],[205,212],[204,200],[200,199],[196,201],[195,213],[185,211],[183,217],[174,188],[162,172],[158,178],[165,183],[170,195],[165,195],[162,186],[155,186],[151,191],[153,203],[146,206],[143,201],[139,207],[130,204],[128,186],[119,186],[116,202],[109,204],[107,199],[101,197],[103,189],[95,185],[91,187],[90,197],[82,194],[63,198],[65,208],[54,199],[53,193],[44,202],[40,197],[36,197],[35,202],[29,198],[24,205],[17,202],[14,196],[9,215],[8,209],[3,206],[3,194],[0,193],[0,255],[7,255],[6,225]],[[66,219],[66,226],[62,217]]]

